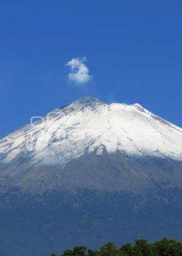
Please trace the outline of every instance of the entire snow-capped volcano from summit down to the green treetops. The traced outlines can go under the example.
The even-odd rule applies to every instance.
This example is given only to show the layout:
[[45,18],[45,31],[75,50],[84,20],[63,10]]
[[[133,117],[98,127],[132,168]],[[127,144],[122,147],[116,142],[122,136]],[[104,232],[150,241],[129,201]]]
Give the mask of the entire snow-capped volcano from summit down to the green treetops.
[[181,128],[78,99],[0,140],[0,254],[181,239],[181,185]]

